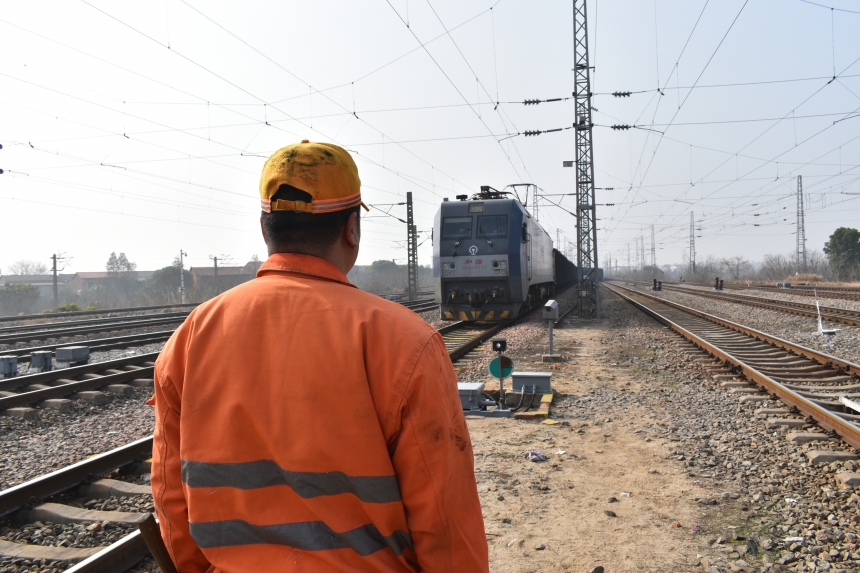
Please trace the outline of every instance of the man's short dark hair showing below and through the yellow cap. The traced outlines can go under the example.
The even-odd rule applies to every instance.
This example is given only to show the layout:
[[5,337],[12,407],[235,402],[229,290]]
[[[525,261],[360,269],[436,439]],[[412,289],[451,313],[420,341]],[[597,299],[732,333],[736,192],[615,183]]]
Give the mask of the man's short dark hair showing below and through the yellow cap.
[[[313,197],[295,187],[281,185],[272,201],[277,199],[310,203]],[[328,253],[343,231],[349,216],[359,213],[360,209],[361,207],[357,206],[318,215],[292,211],[263,211],[260,221],[273,252],[320,256]]]

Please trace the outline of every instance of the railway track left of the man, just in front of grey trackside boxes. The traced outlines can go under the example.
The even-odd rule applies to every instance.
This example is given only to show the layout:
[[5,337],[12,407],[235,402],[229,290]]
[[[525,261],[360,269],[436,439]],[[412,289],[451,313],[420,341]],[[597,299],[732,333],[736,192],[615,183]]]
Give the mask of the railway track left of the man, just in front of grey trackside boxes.
[[103,389],[132,394],[134,387],[152,387],[156,358],[153,352],[0,380],[0,412],[27,418],[36,416],[28,406],[64,409],[73,399],[100,403]]

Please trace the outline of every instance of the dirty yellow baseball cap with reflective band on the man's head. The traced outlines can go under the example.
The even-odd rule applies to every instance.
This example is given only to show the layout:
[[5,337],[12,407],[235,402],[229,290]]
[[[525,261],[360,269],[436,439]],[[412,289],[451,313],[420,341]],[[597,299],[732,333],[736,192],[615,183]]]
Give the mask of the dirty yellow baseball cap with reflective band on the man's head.
[[[313,199],[272,200],[281,185],[304,191]],[[361,205],[361,180],[349,152],[331,143],[311,143],[307,139],[277,150],[263,165],[260,177],[260,204],[263,211],[333,213]]]

